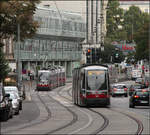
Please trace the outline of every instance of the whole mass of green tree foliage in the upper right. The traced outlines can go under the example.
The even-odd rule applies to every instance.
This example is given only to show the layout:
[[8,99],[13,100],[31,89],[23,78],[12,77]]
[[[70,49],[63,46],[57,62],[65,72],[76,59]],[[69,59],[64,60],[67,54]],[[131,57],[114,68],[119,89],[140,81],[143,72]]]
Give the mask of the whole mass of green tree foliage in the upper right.
[[[116,17],[118,15],[118,17]],[[123,19],[123,21],[121,21]],[[139,7],[131,6],[123,11],[119,8],[118,0],[109,0],[107,9],[107,34],[112,41],[135,41],[136,52],[128,56],[128,62],[134,57],[135,61],[149,59],[148,30],[149,14],[144,13]],[[121,25],[122,29],[118,29]]]

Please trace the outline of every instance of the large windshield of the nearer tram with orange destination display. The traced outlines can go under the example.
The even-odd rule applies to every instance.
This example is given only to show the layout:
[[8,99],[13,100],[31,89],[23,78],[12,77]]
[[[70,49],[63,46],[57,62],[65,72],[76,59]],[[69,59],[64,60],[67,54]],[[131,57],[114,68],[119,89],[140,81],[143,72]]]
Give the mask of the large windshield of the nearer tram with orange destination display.
[[107,90],[105,71],[88,71],[87,90]]

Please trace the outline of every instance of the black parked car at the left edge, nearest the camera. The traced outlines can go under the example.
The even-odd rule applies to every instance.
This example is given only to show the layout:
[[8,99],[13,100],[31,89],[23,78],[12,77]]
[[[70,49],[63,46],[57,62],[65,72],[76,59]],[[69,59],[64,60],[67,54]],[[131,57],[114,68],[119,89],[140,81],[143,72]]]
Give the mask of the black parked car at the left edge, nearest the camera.
[[13,117],[12,100],[10,94],[6,94],[2,83],[0,83],[0,117],[6,121]]

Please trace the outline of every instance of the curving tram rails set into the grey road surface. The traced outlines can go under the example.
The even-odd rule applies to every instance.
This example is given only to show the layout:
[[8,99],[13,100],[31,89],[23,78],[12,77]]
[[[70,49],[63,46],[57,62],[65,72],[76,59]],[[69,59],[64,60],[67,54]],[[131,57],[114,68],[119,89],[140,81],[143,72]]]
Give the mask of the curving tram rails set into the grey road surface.
[[[66,96],[61,95],[61,93],[60,93],[61,90],[62,90],[62,87],[57,90],[57,94],[58,94],[59,96],[65,98],[66,100],[72,101],[70,98],[67,98]],[[70,90],[71,90],[71,88],[66,91],[69,96],[71,96]],[[50,94],[49,92],[46,92],[45,95],[47,95],[48,98],[51,99],[52,97],[51,97],[49,94]],[[35,120],[35,121],[32,122],[32,123],[28,123],[28,124],[25,125],[25,126],[22,126],[22,127],[20,127],[20,128],[16,128],[15,130],[11,130],[11,131],[9,131],[9,132],[17,131],[17,130],[22,130],[22,129],[25,129],[25,128],[28,128],[28,127],[31,128],[31,127],[36,126],[36,125],[38,125],[38,124],[42,124],[42,123],[48,121],[48,120],[51,118],[51,111],[50,111],[48,105],[47,105],[46,102],[41,98],[41,95],[39,95],[39,93],[36,93],[36,95],[37,95],[38,99],[40,100],[40,102],[44,105],[44,108],[46,109],[46,111],[47,111],[47,113],[48,113],[47,117],[45,117],[45,119],[40,120],[40,121],[36,121],[36,120]],[[56,128],[56,129],[54,129],[54,130],[51,130],[51,131],[47,132],[46,134],[57,133],[57,131],[60,131],[60,130],[62,130],[62,129],[65,129],[65,128],[67,128],[67,127],[69,127],[69,126],[75,124],[75,123],[79,120],[78,115],[77,115],[75,112],[73,112],[69,107],[64,106],[63,104],[61,104],[61,103],[60,103],[59,101],[57,101],[57,100],[55,100],[55,101],[56,101],[58,104],[60,104],[61,106],[63,106],[64,108],[66,108],[66,110],[69,111],[69,112],[72,114],[73,119],[72,119],[70,122],[66,123],[65,125],[59,126],[58,128]],[[106,127],[109,125],[109,119],[108,119],[105,115],[103,115],[102,113],[100,113],[99,111],[96,111],[96,110],[91,109],[91,108],[87,108],[87,109],[88,109],[89,111],[91,111],[91,112],[94,112],[94,113],[98,114],[99,116],[101,116],[101,117],[104,119],[104,122],[103,122],[103,124],[100,126],[100,128],[98,128],[97,130],[95,130],[94,132],[92,132],[92,134],[99,134],[99,133],[101,133],[102,131],[104,131],[104,130],[106,129]],[[137,126],[138,126],[137,131],[135,132],[135,134],[136,134],[136,135],[140,135],[140,134],[142,133],[143,128],[144,128],[144,127],[143,127],[143,124],[142,124],[142,122],[139,121],[137,118],[133,117],[133,116],[130,115],[130,114],[127,114],[127,113],[124,113],[124,112],[121,112],[121,111],[117,111],[117,110],[112,109],[112,108],[109,108],[109,110],[114,111],[114,112],[121,113],[121,114],[123,114],[123,115],[129,117],[130,119],[134,120],[134,121],[137,123]],[[89,122],[85,127],[81,128],[81,130],[86,129],[90,124],[91,124],[91,123]],[[73,133],[78,133],[77,131],[80,131],[80,129],[71,132],[71,134],[73,134]],[[8,133],[9,133],[9,132],[8,132]]]

